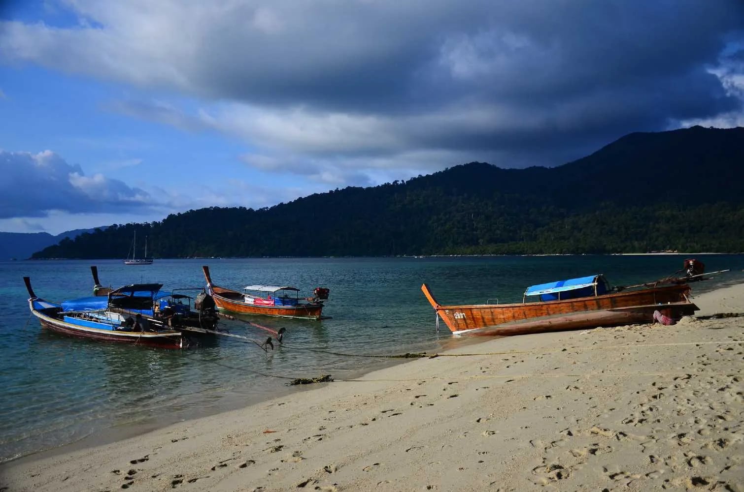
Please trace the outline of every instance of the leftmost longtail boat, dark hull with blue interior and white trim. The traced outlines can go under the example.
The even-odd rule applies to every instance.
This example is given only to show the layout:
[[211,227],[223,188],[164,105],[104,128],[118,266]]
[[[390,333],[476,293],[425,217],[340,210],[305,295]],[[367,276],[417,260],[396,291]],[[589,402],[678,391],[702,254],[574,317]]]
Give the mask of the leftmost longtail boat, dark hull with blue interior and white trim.
[[161,349],[181,349],[180,331],[150,325],[152,331],[132,331],[126,326],[126,316],[108,310],[62,311],[62,305],[40,299],[33,293],[31,279],[23,277],[28,295],[28,308],[39,318],[44,328],[71,337],[105,340],[116,343],[152,346]]

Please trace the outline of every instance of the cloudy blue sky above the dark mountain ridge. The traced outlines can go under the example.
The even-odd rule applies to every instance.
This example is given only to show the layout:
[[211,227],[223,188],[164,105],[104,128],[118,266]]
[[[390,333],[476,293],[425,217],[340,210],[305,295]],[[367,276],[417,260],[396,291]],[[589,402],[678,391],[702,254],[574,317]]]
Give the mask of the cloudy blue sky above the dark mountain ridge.
[[0,230],[744,126],[741,0],[0,0]]

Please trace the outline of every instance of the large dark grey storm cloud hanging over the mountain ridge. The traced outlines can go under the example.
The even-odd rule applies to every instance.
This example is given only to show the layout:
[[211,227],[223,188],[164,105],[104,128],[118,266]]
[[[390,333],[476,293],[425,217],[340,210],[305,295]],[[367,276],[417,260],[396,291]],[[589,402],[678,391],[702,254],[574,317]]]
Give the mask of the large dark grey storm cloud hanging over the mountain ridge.
[[237,135],[256,151],[249,166],[302,173],[309,161],[321,181],[557,165],[628,132],[742,110],[726,86],[741,65],[721,56],[744,40],[740,0],[71,5],[87,25],[5,22],[0,53],[190,95],[201,110],[112,108]]

